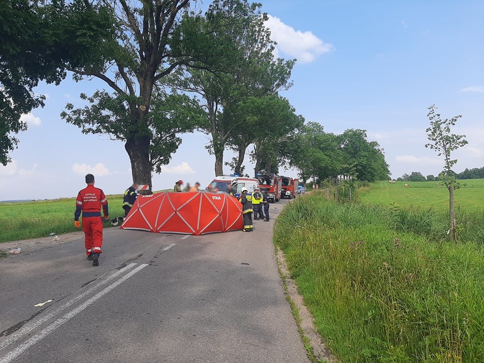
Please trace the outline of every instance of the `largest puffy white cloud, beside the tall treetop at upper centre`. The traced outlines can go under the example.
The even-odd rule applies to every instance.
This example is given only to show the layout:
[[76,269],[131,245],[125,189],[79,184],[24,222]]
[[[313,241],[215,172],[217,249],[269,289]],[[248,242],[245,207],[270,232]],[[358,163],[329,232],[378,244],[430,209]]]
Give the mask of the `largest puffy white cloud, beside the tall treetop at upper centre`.
[[311,31],[294,30],[279,18],[268,15],[266,26],[271,30],[271,39],[277,42],[275,56],[284,53],[295,57],[300,63],[311,63],[323,54],[334,50],[334,46],[325,43]]

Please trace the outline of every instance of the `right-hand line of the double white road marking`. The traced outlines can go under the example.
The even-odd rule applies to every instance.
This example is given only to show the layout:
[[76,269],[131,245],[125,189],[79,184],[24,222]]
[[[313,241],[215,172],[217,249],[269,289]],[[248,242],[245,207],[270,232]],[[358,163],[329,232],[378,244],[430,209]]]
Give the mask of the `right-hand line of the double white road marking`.
[[13,349],[11,352],[9,352],[7,355],[3,356],[0,358],[0,363],[9,363],[12,361],[12,359],[15,359],[17,356],[22,354],[25,350],[30,348],[32,345],[37,343],[40,339],[46,337],[48,334],[53,332],[55,329],[57,329],[59,326],[63,325],[64,323],[68,322],[70,319],[74,318],[77,314],[82,312],[84,309],[86,309],[89,305],[93,304],[97,300],[99,300],[102,296],[107,294],[109,291],[111,291],[113,288],[115,288],[117,285],[122,284],[126,280],[128,280],[131,276],[136,274],[137,272],[141,271],[144,269],[148,264],[141,264],[134,270],[130,271],[126,275],[124,275],[122,278],[119,280],[113,282],[111,285],[107,286],[103,290],[99,291],[97,294],[89,298],[88,300],[84,301],[81,305],[79,305],[76,309],[70,311],[66,315],[64,315],[62,318],[57,319],[55,322],[52,324],[48,325],[46,328],[41,330],[39,333],[34,335],[32,338],[26,340],[24,343],[20,344],[18,347]]

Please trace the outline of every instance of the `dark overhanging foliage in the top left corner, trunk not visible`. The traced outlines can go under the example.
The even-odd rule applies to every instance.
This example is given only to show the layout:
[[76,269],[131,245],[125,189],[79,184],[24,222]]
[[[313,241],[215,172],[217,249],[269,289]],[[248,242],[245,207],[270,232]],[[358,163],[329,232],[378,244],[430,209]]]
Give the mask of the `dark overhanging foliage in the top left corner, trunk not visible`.
[[0,2],[0,163],[11,159],[22,114],[44,105],[39,81],[58,84],[66,66],[95,64],[112,31],[108,8],[83,0]]

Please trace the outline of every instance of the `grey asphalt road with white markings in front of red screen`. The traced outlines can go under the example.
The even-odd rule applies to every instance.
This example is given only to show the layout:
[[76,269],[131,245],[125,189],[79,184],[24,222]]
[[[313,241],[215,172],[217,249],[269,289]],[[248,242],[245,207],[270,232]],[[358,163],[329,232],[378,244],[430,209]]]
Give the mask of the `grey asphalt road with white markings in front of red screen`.
[[308,362],[272,244],[283,204],[253,233],[106,229],[99,267],[82,233],[21,244],[0,259],[0,363]]

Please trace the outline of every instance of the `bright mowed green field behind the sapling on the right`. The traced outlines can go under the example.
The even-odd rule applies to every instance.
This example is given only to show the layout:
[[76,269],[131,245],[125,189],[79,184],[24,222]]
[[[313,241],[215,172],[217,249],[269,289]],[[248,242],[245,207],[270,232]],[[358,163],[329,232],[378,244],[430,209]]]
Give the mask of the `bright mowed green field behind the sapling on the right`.
[[[438,181],[388,181],[373,183],[359,190],[362,203],[391,205],[400,207],[434,208],[444,210],[449,207],[449,191]],[[484,179],[459,180],[461,188],[455,191],[455,207],[468,212],[484,211]],[[408,184],[409,187],[404,187]]]

